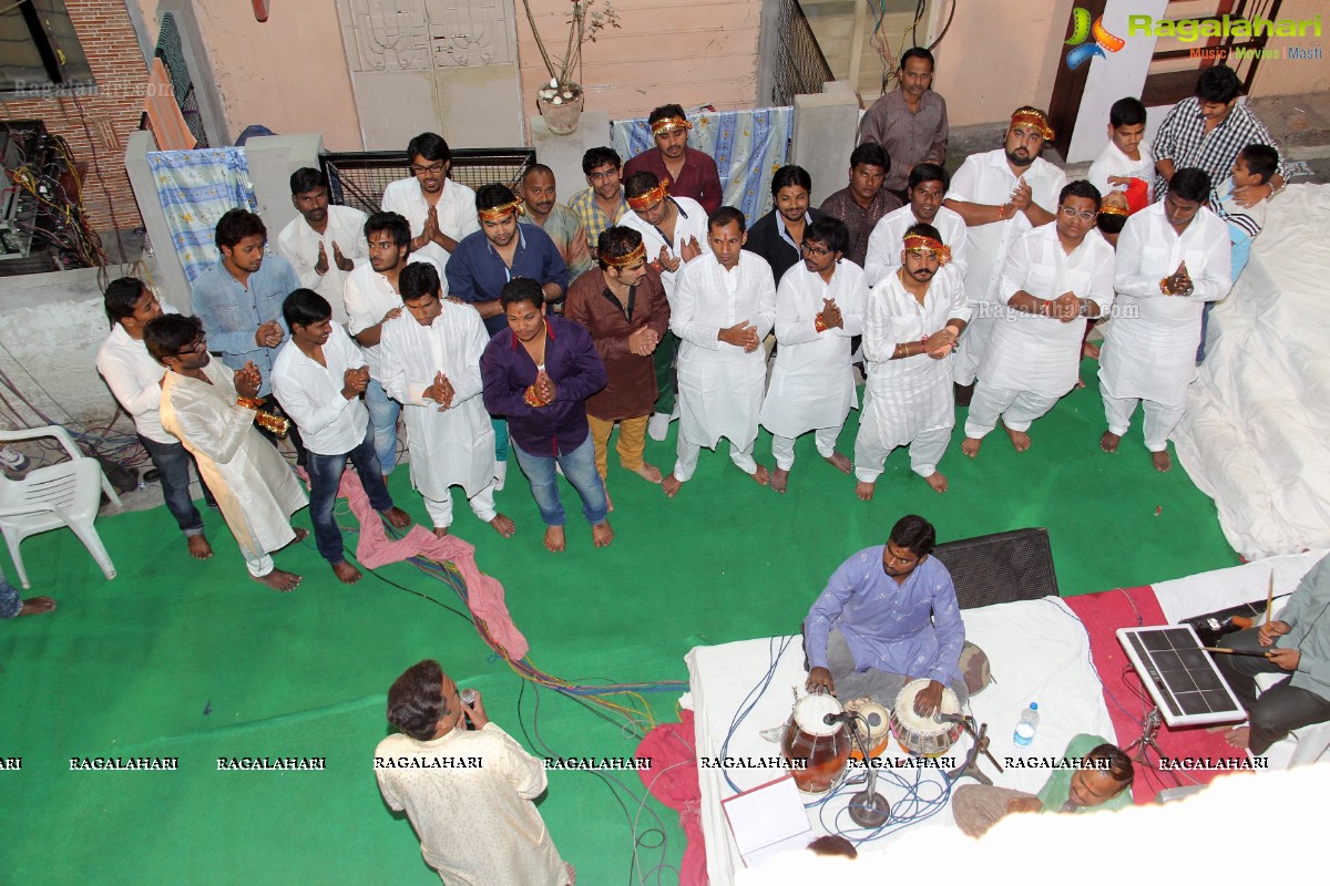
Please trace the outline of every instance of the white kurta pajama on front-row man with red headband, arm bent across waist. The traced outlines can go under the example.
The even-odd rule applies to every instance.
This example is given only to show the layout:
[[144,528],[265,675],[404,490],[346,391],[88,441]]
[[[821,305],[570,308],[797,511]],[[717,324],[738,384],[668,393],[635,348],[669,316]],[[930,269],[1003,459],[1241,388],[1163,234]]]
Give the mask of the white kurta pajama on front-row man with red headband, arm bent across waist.
[[962,282],[936,274],[923,304],[892,275],[868,294],[863,316],[863,387],[859,436],[854,441],[854,476],[871,484],[896,446],[910,445],[910,466],[931,477],[947,452],[956,424],[951,387],[955,353],[934,360],[927,353],[892,360],[898,344],[920,341],[947,325],[968,320],[970,303]]

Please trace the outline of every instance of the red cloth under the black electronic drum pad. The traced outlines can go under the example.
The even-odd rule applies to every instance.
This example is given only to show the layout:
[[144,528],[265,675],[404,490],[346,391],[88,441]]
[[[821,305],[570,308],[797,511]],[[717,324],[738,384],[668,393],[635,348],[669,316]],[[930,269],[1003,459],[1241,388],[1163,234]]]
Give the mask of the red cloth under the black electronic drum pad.
[[[1095,659],[1099,677],[1104,683],[1104,703],[1113,720],[1117,745],[1125,747],[1140,737],[1141,721],[1152,703],[1141,699],[1141,695],[1148,697],[1148,693],[1141,685],[1136,668],[1132,667],[1130,659],[1123,651],[1123,644],[1117,642],[1115,631],[1120,627],[1168,624],[1164,610],[1160,608],[1154,590],[1150,587],[1115,588],[1100,594],[1069,596],[1063,602],[1076,612],[1089,634],[1091,656]],[[1164,725],[1156,740],[1162,748],[1164,756],[1172,760],[1245,757],[1245,752],[1229,747],[1222,732],[1206,732],[1205,728],[1172,729]],[[1134,753],[1133,751],[1132,756]],[[1153,765],[1158,762],[1153,753],[1150,761]],[[1217,774],[1221,773],[1197,769],[1161,773],[1146,770],[1141,764],[1137,764],[1132,798],[1137,804],[1150,802],[1154,800],[1154,794],[1165,788],[1174,788],[1178,784],[1209,784]]]

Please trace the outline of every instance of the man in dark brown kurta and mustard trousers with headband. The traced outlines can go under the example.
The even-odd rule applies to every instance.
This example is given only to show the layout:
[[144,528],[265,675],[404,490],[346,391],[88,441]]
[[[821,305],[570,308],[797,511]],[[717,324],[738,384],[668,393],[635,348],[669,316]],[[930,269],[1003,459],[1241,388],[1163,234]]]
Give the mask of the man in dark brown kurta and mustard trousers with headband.
[[618,422],[622,466],[652,484],[661,472],[642,461],[646,422],[656,405],[652,353],[669,328],[669,302],[661,278],[646,263],[642,235],[608,227],[597,247],[600,271],[588,271],[568,287],[564,316],[591,332],[609,383],[587,400],[587,422],[596,444],[596,470],[608,473],[609,434]]

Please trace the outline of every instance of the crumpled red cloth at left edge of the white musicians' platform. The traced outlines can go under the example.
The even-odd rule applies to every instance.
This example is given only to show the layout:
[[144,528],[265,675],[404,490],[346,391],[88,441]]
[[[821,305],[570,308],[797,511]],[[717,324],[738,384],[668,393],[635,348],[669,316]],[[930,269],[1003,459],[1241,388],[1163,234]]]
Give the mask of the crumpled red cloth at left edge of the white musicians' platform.
[[637,745],[638,757],[652,761],[637,774],[653,797],[678,812],[688,838],[680,863],[680,886],[706,886],[706,842],[702,838],[702,789],[697,784],[697,752],[693,748],[693,712],[681,723],[662,723]]

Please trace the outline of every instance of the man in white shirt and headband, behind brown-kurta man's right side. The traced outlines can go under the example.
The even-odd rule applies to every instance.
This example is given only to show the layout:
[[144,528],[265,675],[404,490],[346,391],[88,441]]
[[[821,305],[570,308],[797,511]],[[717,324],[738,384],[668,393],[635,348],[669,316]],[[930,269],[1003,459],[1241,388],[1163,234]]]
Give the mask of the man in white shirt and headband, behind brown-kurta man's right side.
[[[633,173],[624,182],[629,211],[622,226],[642,235],[646,258],[660,272],[665,295],[674,298],[678,274],[684,264],[709,248],[706,239],[706,213],[702,205],[688,197],[672,197],[669,179],[656,173]],[[653,356],[656,364],[656,412],[648,425],[652,440],[665,440],[669,422],[677,418],[674,409],[674,351],[678,339],[666,332]]]

